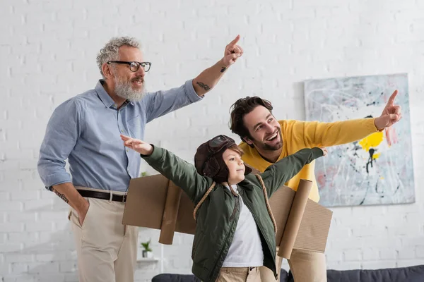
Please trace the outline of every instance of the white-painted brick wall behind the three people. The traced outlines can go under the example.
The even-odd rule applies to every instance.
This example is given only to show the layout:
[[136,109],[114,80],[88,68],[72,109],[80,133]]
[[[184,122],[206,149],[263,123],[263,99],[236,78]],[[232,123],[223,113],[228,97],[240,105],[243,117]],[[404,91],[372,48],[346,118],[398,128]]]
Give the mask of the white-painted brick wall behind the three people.
[[[95,86],[95,56],[117,35],[143,43],[153,62],[150,90],[193,78],[242,35],[245,55],[204,101],[148,125],[148,142],[188,161],[206,138],[230,135],[228,109],[239,97],[259,94],[278,118],[302,119],[302,80],[408,73],[416,203],[333,209],[327,261],[332,269],[424,264],[423,3],[1,1],[0,281],[77,281],[66,204],[43,189],[38,149],[54,107]],[[158,231],[142,229],[140,239],[148,238],[160,257]],[[176,235],[163,262],[139,263],[137,281],[150,281],[161,263],[166,272],[189,273],[191,243],[192,236]]]

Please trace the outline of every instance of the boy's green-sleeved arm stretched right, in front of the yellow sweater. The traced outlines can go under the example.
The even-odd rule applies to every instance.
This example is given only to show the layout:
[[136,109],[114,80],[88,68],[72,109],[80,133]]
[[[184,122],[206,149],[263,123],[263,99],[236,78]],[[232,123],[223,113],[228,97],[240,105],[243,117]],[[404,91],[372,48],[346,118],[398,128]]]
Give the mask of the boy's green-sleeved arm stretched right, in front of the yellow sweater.
[[264,180],[269,197],[290,178],[298,174],[305,164],[325,156],[326,153],[326,148],[301,149],[266,168],[266,171],[261,173],[261,177]]

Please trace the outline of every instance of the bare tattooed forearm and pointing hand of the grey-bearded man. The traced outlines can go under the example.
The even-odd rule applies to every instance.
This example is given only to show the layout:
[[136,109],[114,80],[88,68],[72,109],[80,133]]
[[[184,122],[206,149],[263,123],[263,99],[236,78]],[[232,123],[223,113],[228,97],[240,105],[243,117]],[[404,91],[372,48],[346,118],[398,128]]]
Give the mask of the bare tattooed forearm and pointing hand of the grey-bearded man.
[[220,59],[218,63],[211,66],[211,68],[206,68],[206,70],[202,71],[194,78],[194,91],[196,91],[199,96],[204,96],[206,92],[215,87],[220,78],[223,77],[225,71],[242,56],[243,49],[237,45],[239,40],[240,35],[237,35],[237,37],[225,47],[223,59]]

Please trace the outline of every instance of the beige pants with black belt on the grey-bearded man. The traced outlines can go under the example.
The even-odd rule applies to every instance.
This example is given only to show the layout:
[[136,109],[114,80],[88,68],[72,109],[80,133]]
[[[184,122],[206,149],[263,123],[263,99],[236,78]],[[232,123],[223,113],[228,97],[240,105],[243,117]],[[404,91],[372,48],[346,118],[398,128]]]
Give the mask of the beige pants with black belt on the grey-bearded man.
[[69,213],[76,242],[79,281],[133,282],[139,228],[122,225],[124,203],[95,198],[86,200],[90,207],[82,226],[76,210],[71,209]]

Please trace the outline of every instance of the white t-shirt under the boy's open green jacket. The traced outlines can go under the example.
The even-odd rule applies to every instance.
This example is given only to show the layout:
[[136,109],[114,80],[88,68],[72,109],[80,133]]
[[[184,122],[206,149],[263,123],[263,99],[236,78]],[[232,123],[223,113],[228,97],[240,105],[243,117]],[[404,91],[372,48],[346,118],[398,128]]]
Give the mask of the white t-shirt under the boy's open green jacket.
[[[226,187],[230,190],[228,186]],[[237,185],[231,185],[231,187],[238,193]],[[262,266],[264,265],[264,251],[257,224],[242,197],[239,196],[239,199],[240,218],[223,267]]]

